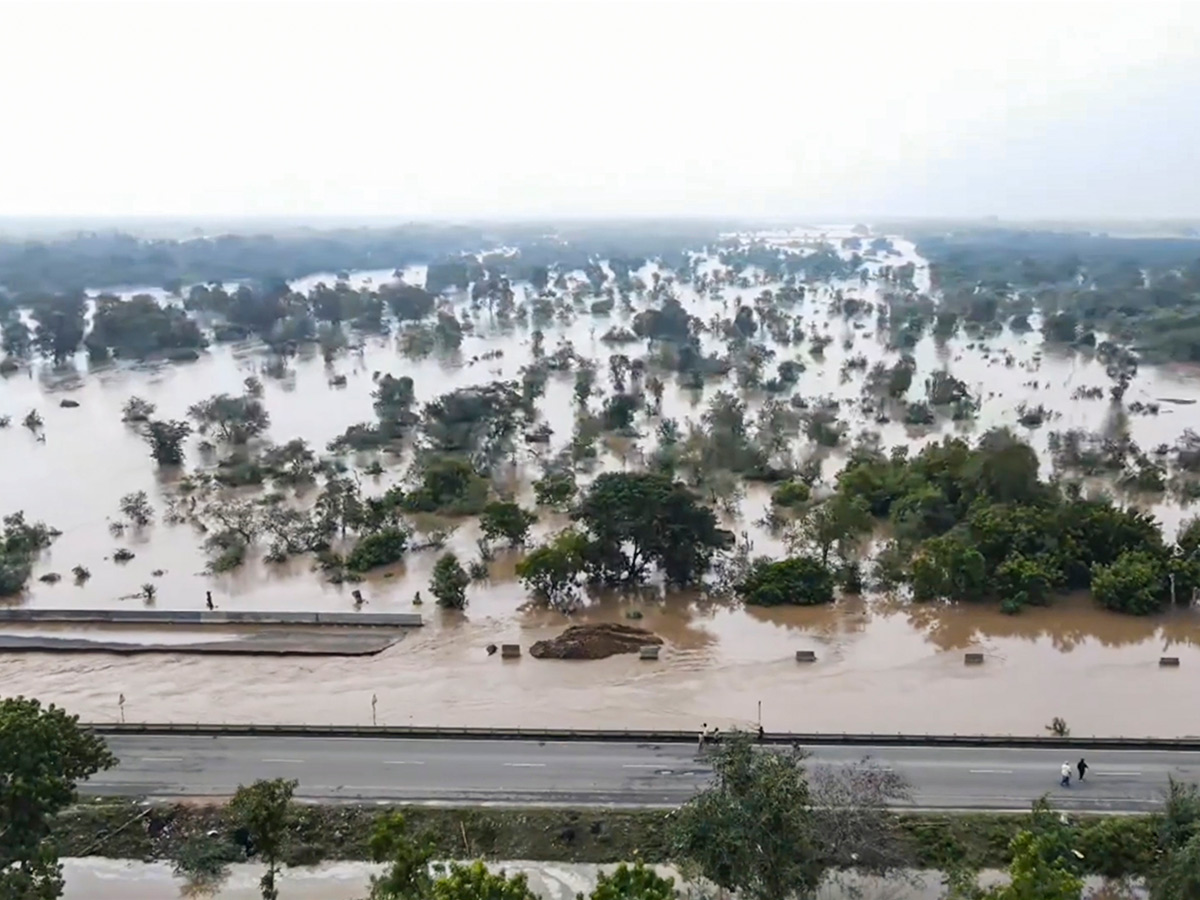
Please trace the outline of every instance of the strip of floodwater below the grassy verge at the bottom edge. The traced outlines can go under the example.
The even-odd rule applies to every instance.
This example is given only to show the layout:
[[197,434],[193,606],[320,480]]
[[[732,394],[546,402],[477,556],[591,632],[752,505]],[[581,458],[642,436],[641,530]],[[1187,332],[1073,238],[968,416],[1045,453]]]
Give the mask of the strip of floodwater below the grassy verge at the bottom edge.
[[[509,874],[523,872],[529,888],[542,900],[575,900],[595,887],[596,874],[611,866],[589,863],[535,863],[512,860],[490,863],[492,870]],[[683,898],[712,896],[697,886],[684,883],[671,866],[654,866],[660,875],[673,877]],[[124,859],[66,859],[65,900],[175,900],[196,896],[186,892],[167,863],[138,863]],[[371,875],[379,871],[367,863],[332,863],[326,865],[288,869],[281,878],[281,890],[289,900],[359,900],[367,892]],[[257,900],[262,869],[257,865],[234,865],[229,878],[214,900]],[[980,883],[991,886],[1002,881],[997,872],[984,871]],[[1088,880],[1088,896],[1100,900],[1103,883]],[[1091,893],[1094,892],[1094,893]],[[894,878],[876,878],[845,874],[830,880],[817,893],[817,900],[938,900],[942,896],[941,875],[936,871],[913,870]],[[1126,900],[1138,900],[1145,893],[1123,893]]]

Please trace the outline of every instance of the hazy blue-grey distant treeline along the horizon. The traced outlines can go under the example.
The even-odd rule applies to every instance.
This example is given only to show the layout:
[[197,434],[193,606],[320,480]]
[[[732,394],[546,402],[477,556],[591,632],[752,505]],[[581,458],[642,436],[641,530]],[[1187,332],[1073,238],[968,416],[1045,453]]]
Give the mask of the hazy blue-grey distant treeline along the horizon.
[[[71,293],[115,286],[163,287],[178,290],[181,284],[211,281],[292,280],[323,271],[401,269],[410,264],[431,263],[464,252],[488,252],[505,247],[520,250],[528,264],[581,268],[588,260],[602,258],[678,259],[684,251],[715,244],[721,234],[755,228],[779,228],[785,223],[757,223],[720,220],[560,220],[450,223],[410,222],[388,227],[319,229],[301,224],[301,220],[274,220],[275,233],[256,232],[256,226],[271,220],[227,222],[241,227],[241,233],[215,233],[200,227],[200,220],[188,232],[180,218],[158,220],[173,223],[170,238],[148,238],[131,232],[74,230],[53,234],[52,224],[70,220],[43,220],[42,236],[5,236],[6,222],[0,220],[0,290],[10,296],[47,293]],[[318,220],[310,220],[316,222]],[[335,220],[330,218],[329,222]],[[868,222],[870,220],[866,220]],[[128,220],[130,226],[154,224],[151,220]],[[1016,259],[1050,263],[1046,269],[1063,270],[1058,260],[1082,259],[1108,264],[1135,262],[1157,269],[1164,264],[1182,265],[1200,258],[1200,232],[1182,222],[1106,223],[1106,232],[1092,230],[1098,224],[1073,224],[1069,230],[1046,230],[1031,223],[1016,226],[998,220],[908,220],[876,223],[876,229],[904,234],[918,241],[922,252],[948,254],[954,263],[974,257],[985,278],[1012,272]],[[818,227],[818,226],[817,226]],[[1117,227],[1120,235],[1111,232]],[[1134,230],[1138,229],[1138,234]],[[986,265],[979,266],[983,259]],[[1181,262],[1182,260],[1182,262]],[[943,259],[943,265],[949,259]],[[990,270],[990,271],[985,271]],[[967,272],[964,272],[967,275]],[[970,275],[967,275],[970,277]],[[1014,287],[1026,287],[1013,282]]]

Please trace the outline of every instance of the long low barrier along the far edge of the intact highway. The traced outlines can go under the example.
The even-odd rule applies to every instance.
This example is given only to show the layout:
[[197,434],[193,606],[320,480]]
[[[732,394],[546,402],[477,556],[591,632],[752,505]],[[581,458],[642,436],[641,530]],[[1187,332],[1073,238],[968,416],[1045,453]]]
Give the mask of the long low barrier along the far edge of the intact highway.
[[[106,722],[88,726],[101,734],[254,734],[313,738],[427,738],[438,740],[546,740],[624,742],[640,744],[696,743],[696,732],[683,731],[580,731],[565,728],[455,728],[396,725],[224,725],[187,722]],[[1022,734],[838,734],[767,732],[767,744],[799,746],[958,746],[958,748],[1040,748],[1080,750],[1200,750],[1200,737],[1127,738]]]

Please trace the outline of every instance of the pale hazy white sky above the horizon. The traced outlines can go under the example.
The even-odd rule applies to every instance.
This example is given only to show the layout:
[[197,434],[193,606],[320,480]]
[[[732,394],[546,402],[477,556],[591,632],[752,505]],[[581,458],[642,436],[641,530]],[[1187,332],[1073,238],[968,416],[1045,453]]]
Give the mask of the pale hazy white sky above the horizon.
[[0,215],[1200,215],[1200,0],[0,0]]

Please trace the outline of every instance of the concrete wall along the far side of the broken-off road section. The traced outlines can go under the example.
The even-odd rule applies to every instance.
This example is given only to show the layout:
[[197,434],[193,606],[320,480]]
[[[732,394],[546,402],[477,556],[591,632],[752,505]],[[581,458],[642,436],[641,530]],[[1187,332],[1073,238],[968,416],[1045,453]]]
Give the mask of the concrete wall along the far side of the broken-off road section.
[[0,610],[0,625],[341,625],[420,628],[415,612],[232,612],[224,610]]

